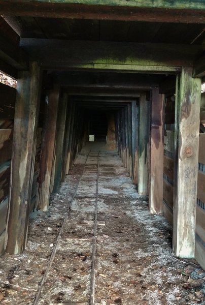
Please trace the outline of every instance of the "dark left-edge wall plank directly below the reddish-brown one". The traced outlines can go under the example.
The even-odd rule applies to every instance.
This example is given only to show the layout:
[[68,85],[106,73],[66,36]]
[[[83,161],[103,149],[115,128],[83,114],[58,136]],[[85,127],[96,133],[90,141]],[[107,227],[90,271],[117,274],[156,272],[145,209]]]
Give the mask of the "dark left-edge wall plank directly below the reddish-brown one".
[[0,202],[9,195],[9,181],[11,162],[4,163],[0,168]]

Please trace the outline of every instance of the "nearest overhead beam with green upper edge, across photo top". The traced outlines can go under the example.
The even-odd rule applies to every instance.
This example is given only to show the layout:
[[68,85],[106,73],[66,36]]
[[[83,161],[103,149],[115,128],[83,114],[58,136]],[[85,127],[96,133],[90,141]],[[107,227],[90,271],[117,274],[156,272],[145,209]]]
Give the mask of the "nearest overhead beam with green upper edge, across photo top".
[[0,14],[13,16],[205,23],[203,0],[13,0],[0,1]]

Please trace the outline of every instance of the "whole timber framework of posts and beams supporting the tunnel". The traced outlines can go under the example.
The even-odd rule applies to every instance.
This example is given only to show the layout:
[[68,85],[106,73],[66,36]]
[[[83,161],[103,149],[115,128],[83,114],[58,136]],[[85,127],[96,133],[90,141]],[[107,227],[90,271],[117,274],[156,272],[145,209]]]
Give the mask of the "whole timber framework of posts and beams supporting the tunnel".
[[[0,14],[21,34],[16,16],[203,24],[205,4],[202,0],[160,0],[154,4],[151,0],[146,3],[143,0],[20,0],[14,6],[13,1],[0,0]],[[82,136],[79,108],[83,105],[83,109],[90,109],[95,102],[97,110],[104,110],[106,103],[108,109],[118,111],[115,126],[118,153],[134,183],[138,183],[139,193],[149,195],[152,214],[163,213],[163,170],[168,163],[174,166],[170,175],[174,193],[173,249],[179,257],[193,258],[204,46],[25,36],[20,38],[19,45],[13,46],[0,33],[0,70],[18,77],[5,250],[22,253],[26,246],[44,71],[48,87],[44,92],[38,208],[48,210],[51,192],[59,190],[83,145],[78,143]],[[48,71],[51,71],[51,83]],[[100,78],[103,73],[106,78]],[[164,158],[167,139],[164,109],[166,96],[174,90],[172,161]],[[26,124],[20,127],[19,121],[24,120]],[[162,160],[167,162],[165,166]],[[27,180],[26,173],[29,173]],[[17,223],[21,225],[15,231]]]

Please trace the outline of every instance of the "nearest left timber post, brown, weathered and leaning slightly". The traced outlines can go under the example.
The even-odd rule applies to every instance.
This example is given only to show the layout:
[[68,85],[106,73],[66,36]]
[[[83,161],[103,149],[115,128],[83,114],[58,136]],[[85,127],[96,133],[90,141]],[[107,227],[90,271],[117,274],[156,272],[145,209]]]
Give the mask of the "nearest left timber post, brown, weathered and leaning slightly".
[[21,254],[27,242],[33,148],[40,107],[40,67],[31,63],[18,75],[5,249]]

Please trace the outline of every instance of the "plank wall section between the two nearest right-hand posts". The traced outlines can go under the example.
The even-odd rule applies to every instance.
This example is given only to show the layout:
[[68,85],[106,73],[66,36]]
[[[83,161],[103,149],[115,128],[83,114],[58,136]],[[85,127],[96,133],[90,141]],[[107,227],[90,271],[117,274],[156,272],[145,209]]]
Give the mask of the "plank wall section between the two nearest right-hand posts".
[[164,169],[163,169],[163,213],[173,223],[173,180],[175,149],[175,99],[166,96],[164,122]]

